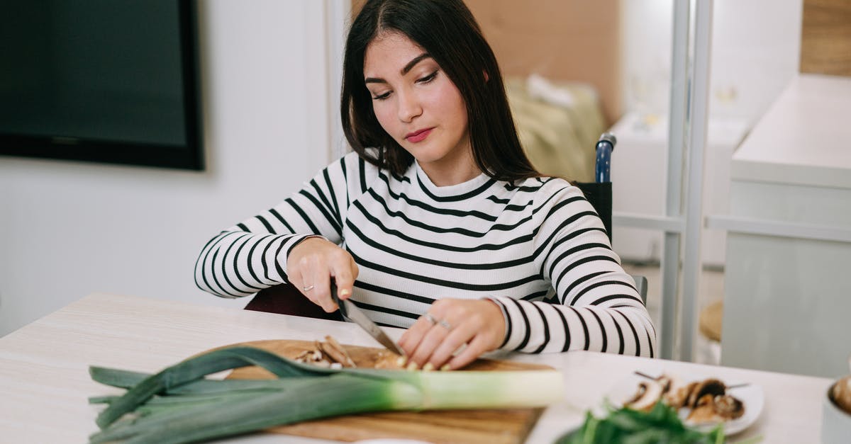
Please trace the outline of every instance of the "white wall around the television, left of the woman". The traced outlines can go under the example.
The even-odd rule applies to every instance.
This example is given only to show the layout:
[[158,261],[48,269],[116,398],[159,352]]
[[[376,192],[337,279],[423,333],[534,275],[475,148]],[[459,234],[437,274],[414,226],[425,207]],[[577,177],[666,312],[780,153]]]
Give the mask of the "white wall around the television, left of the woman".
[[0,157],[0,335],[92,292],[244,305],[193,266],[328,162],[325,8],[201,2],[204,172]]

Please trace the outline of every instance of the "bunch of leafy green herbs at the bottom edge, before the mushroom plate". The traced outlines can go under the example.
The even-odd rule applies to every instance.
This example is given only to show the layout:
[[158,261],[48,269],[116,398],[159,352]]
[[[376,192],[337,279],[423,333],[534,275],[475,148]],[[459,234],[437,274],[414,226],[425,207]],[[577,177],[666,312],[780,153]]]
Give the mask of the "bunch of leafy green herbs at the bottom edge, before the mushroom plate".
[[650,412],[622,407],[608,407],[605,418],[595,418],[585,413],[585,424],[580,429],[558,439],[557,444],[720,444],[724,442],[722,424],[701,432],[686,427],[677,416],[677,410],[664,402],[657,402]]

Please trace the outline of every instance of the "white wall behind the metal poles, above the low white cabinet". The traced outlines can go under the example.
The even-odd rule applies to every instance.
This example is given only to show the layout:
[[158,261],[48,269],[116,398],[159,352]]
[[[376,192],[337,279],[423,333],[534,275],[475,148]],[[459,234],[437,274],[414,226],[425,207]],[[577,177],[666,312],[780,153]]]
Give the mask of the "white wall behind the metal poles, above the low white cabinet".
[[[624,104],[665,115],[671,87],[673,2],[622,2]],[[711,117],[749,126],[797,74],[802,0],[715,0]]]

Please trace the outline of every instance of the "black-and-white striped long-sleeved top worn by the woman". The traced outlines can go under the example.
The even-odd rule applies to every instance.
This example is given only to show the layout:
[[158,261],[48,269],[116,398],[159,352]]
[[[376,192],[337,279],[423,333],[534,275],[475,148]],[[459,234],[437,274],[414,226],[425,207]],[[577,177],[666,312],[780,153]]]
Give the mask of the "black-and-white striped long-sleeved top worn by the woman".
[[346,248],[351,299],[375,322],[409,327],[435,299],[494,300],[502,348],[653,356],[654,327],[597,213],[563,179],[481,175],[437,187],[419,165],[388,174],[351,153],[294,195],[210,240],[198,287],[226,298],[287,282],[306,236]]

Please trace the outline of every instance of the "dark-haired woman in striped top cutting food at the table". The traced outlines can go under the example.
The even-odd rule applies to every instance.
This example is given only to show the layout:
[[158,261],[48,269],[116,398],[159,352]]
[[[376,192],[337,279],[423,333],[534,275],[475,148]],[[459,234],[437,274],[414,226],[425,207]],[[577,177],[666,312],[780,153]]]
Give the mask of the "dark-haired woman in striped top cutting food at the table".
[[292,282],[407,327],[409,367],[488,350],[653,356],[654,327],[601,220],[523,153],[493,51],[460,0],[370,0],[346,42],[354,152],[215,236],[196,282],[242,297]]

